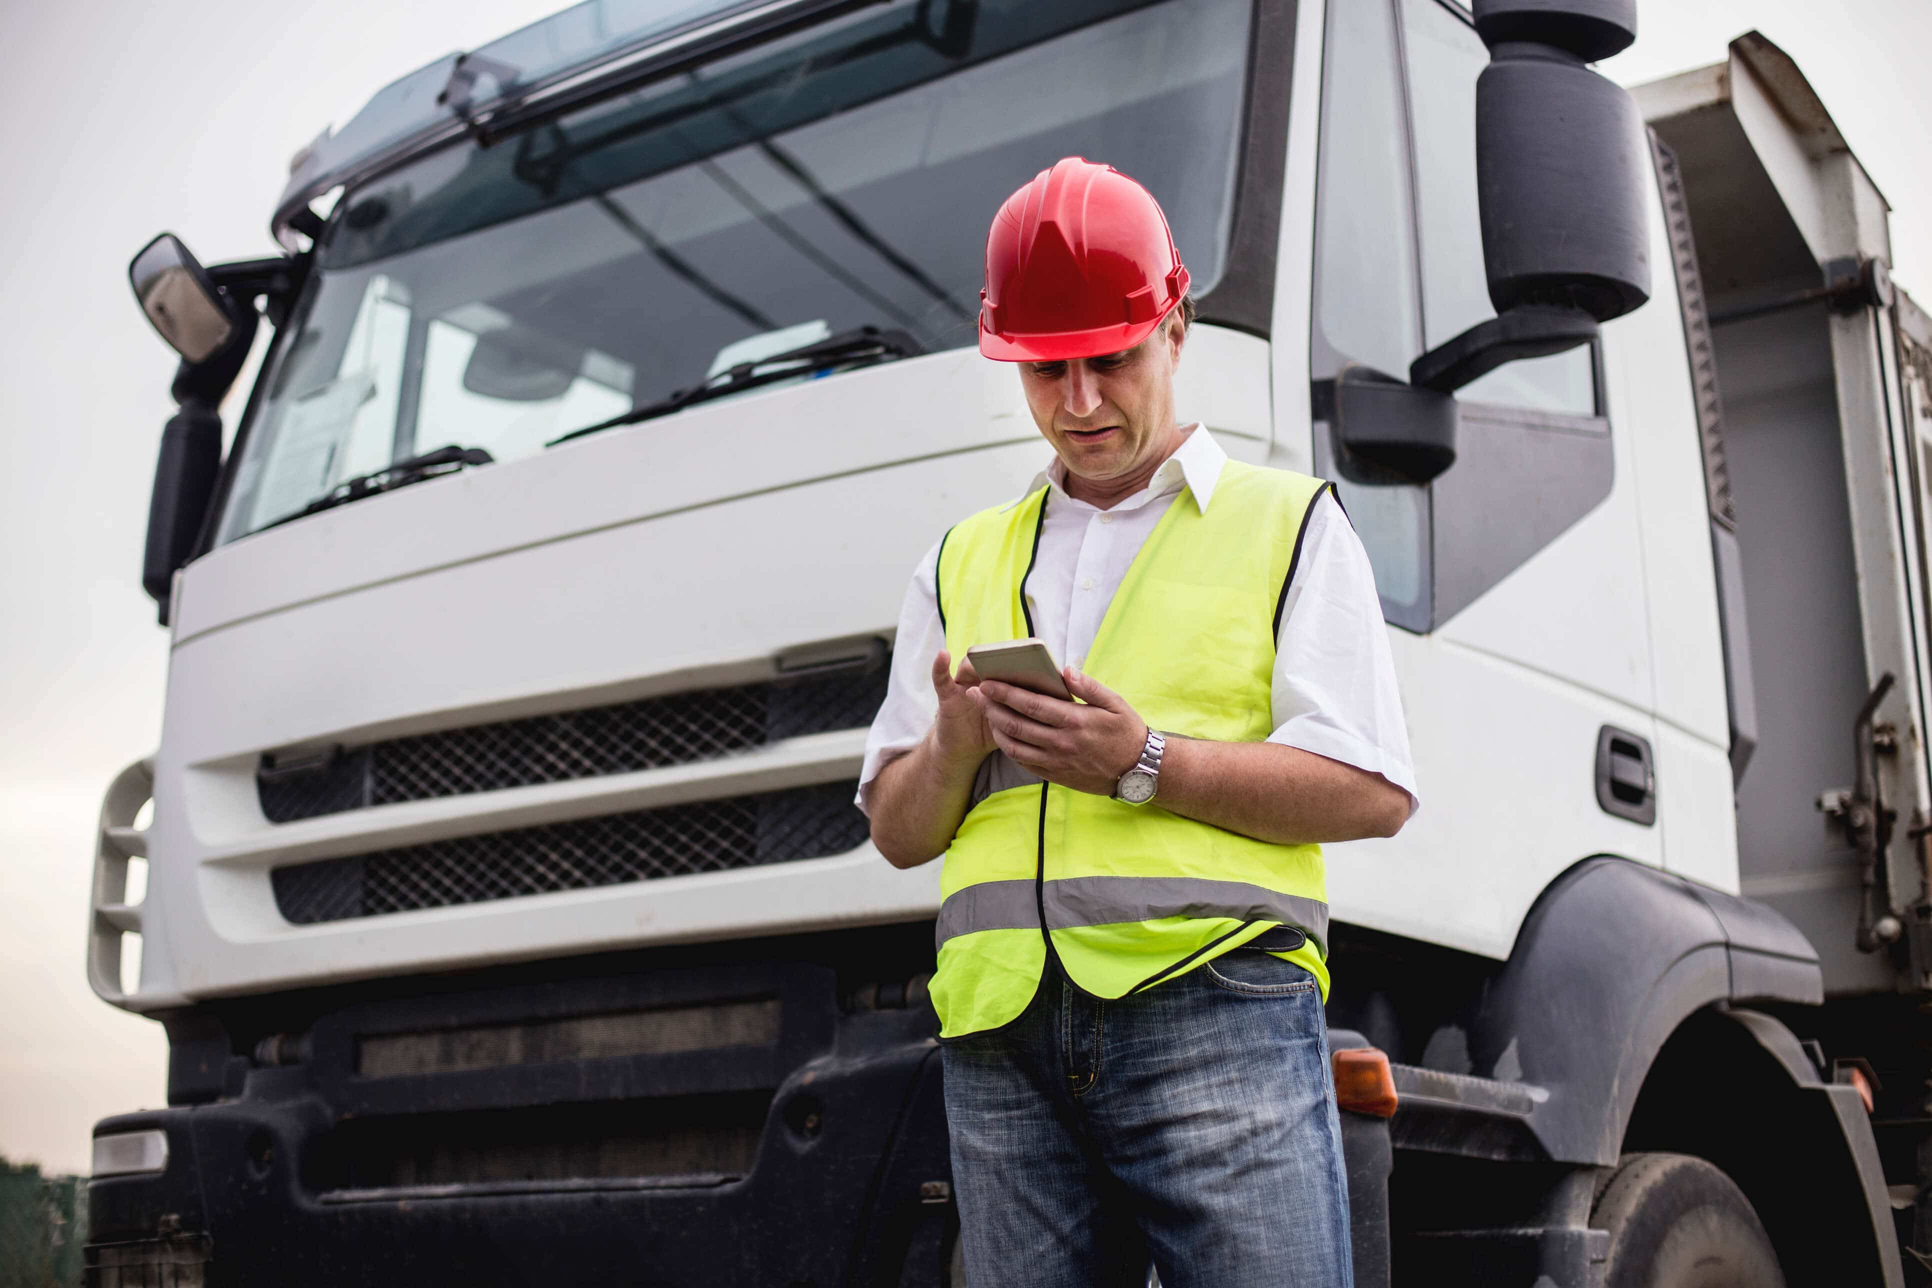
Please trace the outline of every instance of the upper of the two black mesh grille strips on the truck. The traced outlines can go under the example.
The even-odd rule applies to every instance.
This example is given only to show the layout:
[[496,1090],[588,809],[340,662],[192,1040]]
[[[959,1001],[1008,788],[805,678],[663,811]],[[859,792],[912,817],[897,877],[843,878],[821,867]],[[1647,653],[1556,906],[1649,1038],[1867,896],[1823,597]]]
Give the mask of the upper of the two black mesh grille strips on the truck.
[[887,670],[881,660],[864,672],[394,738],[344,751],[309,772],[276,774],[265,765],[255,788],[270,823],[294,823],[365,805],[709,761],[781,738],[866,728],[885,701]]

